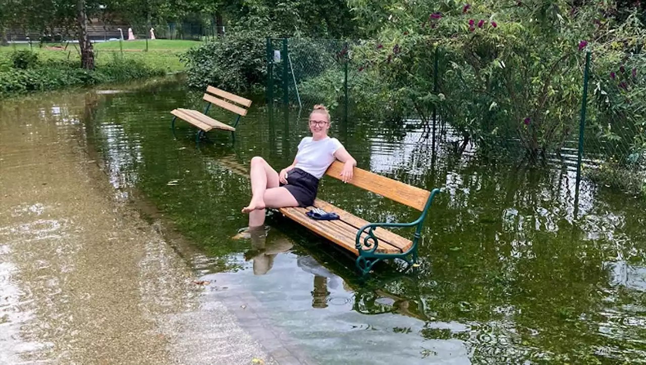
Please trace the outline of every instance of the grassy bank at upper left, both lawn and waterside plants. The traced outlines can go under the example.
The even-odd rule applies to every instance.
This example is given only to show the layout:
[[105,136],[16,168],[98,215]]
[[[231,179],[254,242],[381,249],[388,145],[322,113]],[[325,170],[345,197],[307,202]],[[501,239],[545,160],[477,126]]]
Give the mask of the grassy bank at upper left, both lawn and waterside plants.
[[[149,78],[184,69],[180,54],[198,41],[110,41],[94,44],[96,69],[79,68],[78,45],[0,47],[0,96]],[[17,57],[16,54],[19,54]]]

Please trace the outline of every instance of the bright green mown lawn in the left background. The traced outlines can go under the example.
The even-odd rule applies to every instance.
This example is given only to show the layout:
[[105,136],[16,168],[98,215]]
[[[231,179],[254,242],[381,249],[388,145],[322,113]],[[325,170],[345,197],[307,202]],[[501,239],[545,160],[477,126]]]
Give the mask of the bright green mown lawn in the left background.
[[[94,57],[96,65],[106,65],[113,61],[115,57],[123,57],[123,59],[134,59],[142,61],[145,65],[153,68],[159,68],[166,72],[177,72],[184,70],[184,65],[180,62],[180,54],[185,52],[191,47],[200,45],[199,41],[183,41],[171,39],[155,39],[148,41],[148,52],[144,52],[146,48],[145,39],[136,41],[123,41],[123,54],[120,51],[119,41],[109,41],[94,43]],[[43,48],[40,48],[37,43],[32,45],[32,50],[38,54],[38,59],[47,61],[52,59],[54,61],[71,60],[79,61],[78,45],[70,43],[67,49],[51,49],[47,47],[63,47],[65,43],[48,43]],[[0,47],[0,70],[5,69],[10,65],[11,53],[16,50],[29,49],[28,44],[17,44]]]

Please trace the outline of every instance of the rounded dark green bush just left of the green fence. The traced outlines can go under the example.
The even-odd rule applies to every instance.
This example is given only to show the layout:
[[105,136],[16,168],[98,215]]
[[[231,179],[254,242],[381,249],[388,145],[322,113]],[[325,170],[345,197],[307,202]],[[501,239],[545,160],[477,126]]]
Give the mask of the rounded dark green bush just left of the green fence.
[[204,89],[213,85],[226,90],[248,90],[264,82],[266,73],[262,30],[241,30],[188,50],[182,57],[187,82]]

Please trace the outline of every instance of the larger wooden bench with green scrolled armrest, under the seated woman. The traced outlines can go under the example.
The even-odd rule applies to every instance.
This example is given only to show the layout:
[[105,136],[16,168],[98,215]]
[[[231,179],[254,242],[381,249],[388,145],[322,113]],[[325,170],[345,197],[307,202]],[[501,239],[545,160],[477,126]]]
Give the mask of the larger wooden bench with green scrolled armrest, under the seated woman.
[[[335,161],[330,165],[326,174],[340,179],[343,163]],[[359,168],[354,169],[352,185],[379,194],[395,202],[421,211],[417,220],[410,223],[369,223],[354,216],[339,207],[317,199],[313,207],[326,212],[339,214],[339,220],[314,220],[306,213],[313,207],[288,207],[278,209],[287,218],[304,225],[317,235],[323,236],[335,244],[357,255],[357,268],[366,274],[380,260],[386,258],[401,258],[413,264],[417,261],[417,244],[421,237],[424,218],[439,189],[426,191],[406,183],[398,182],[384,176]],[[413,240],[389,231],[386,227],[417,227]]]

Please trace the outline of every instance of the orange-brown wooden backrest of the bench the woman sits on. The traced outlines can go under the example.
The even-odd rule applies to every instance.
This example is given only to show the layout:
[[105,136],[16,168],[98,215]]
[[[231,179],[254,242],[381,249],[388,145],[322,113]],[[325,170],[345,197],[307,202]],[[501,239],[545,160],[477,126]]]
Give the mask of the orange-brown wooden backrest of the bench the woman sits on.
[[[335,161],[329,166],[326,174],[340,180],[342,169],[343,163]],[[386,198],[395,200],[395,202],[413,207],[418,211],[424,211],[426,200],[428,200],[428,196],[431,194],[430,191],[398,182],[397,180],[386,178],[386,176],[362,170],[358,167],[355,167],[352,180],[349,183],[360,187],[361,189],[366,189],[381,196],[385,196]]]

